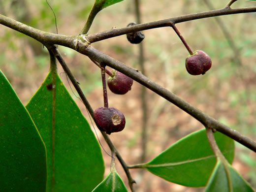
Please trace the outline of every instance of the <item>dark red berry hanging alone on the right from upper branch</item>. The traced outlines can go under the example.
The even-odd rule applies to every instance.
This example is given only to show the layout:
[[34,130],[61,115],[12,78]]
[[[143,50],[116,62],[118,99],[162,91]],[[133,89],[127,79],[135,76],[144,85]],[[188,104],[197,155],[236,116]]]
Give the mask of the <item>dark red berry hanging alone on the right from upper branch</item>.
[[191,75],[203,75],[212,66],[212,60],[205,52],[197,50],[186,59],[186,69]]

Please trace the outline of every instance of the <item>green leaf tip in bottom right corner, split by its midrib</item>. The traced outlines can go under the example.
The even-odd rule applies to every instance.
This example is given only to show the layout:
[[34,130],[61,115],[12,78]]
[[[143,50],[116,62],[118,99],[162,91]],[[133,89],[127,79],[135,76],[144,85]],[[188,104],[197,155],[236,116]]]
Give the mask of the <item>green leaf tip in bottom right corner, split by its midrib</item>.
[[[233,192],[254,192],[249,183],[231,165],[228,166]],[[224,164],[221,161],[217,162],[205,192],[229,192]]]

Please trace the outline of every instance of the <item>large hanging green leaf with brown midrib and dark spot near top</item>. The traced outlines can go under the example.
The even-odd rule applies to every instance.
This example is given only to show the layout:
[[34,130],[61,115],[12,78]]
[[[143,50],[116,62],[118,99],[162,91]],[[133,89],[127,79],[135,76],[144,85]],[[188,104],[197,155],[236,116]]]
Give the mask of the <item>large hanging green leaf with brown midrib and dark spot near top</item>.
[[91,192],[103,180],[101,149],[57,72],[48,74],[27,109],[47,149],[47,191]]

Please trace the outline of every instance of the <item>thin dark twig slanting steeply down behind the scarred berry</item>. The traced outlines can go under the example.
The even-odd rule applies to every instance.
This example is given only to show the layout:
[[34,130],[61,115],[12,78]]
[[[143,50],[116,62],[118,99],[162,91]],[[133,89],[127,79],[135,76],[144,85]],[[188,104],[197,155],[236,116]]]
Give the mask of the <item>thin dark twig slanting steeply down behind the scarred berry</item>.
[[[69,77],[69,79],[72,82],[73,86],[75,87],[78,95],[80,96],[80,98],[82,99],[84,105],[88,109],[90,115],[94,119],[94,110],[93,110],[93,108],[91,107],[89,101],[87,100],[87,98],[85,97],[84,93],[82,92],[82,90],[81,90],[81,88],[80,88],[80,86],[78,84],[78,81],[75,79],[74,75],[72,74],[72,72],[70,71],[69,67],[65,63],[65,61],[64,61],[63,57],[61,56],[59,50],[56,49],[56,47],[51,47],[50,50],[53,52],[54,56],[57,58],[57,60],[62,65],[65,73],[67,74],[67,76]],[[127,178],[128,178],[128,182],[129,182],[129,187],[130,187],[131,191],[134,192],[133,184],[136,183],[136,182],[134,181],[134,179],[132,179],[126,162],[123,160],[122,156],[119,154],[118,150],[115,148],[114,144],[112,143],[112,141],[110,140],[110,138],[106,134],[106,132],[104,132],[104,131],[100,131],[100,132],[103,135],[106,143],[108,144],[111,152],[115,152],[117,159],[120,161],[122,167],[124,168],[124,170],[126,172],[126,175],[127,175]]]

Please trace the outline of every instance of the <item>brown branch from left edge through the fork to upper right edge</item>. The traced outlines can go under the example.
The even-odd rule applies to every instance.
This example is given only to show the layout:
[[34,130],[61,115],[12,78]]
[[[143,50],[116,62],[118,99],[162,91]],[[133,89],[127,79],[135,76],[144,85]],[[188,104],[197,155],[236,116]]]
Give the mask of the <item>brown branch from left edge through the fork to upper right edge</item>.
[[[208,17],[216,17],[221,15],[230,15],[230,14],[238,14],[238,13],[251,13],[251,12],[256,12],[256,7],[246,7],[246,8],[237,8],[237,9],[224,8],[224,9],[218,9],[218,10],[207,11],[202,13],[194,13],[190,15],[174,17],[170,19],[164,19],[164,20],[150,22],[150,23],[134,25],[134,26],[121,28],[121,29],[112,29],[106,32],[89,34],[87,36],[85,35],[84,36],[82,35],[68,36],[68,35],[44,32],[44,31],[32,28],[23,23],[20,23],[18,21],[15,21],[14,19],[11,19],[1,14],[0,14],[0,24],[6,27],[9,27],[15,31],[26,34],[38,40],[44,45],[47,45],[47,44],[62,45],[80,52],[79,47],[77,47],[78,41],[84,42],[83,46],[85,45],[89,46],[89,42],[93,43],[96,41],[100,41],[100,40],[115,37],[115,36],[120,36],[130,32],[139,32],[139,31],[150,30],[154,28],[169,27],[170,23],[177,24],[177,23],[182,23],[182,22],[187,22],[187,21],[192,21],[192,20],[202,19],[202,18],[208,18]],[[85,38],[87,39],[87,42],[85,42],[86,41]]]

